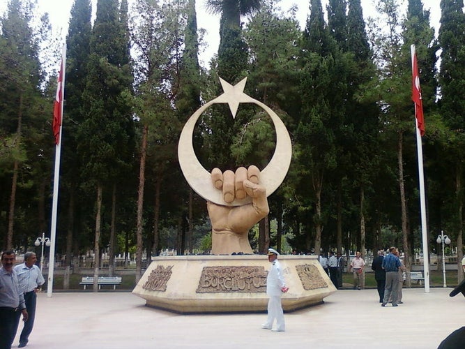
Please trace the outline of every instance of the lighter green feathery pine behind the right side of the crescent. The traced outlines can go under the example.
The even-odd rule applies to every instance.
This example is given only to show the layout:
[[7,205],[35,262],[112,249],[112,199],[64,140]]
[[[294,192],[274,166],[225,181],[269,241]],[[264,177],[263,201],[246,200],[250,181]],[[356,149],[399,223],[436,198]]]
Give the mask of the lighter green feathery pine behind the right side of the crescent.
[[[264,1],[261,10],[247,24],[245,40],[250,47],[250,68],[247,84],[254,86],[254,98],[270,106],[286,124],[292,133],[295,128],[293,118],[300,110],[298,83],[300,70],[296,57],[299,54],[297,43],[301,31],[295,18],[284,17],[275,13],[273,1]],[[256,161],[268,159],[273,151],[273,128],[257,112],[252,122],[247,123],[241,137],[235,138],[234,154],[245,157],[248,151],[254,151]],[[259,149],[259,151],[258,151]],[[248,155],[248,154],[247,154]],[[268,197],[270,214],[268,219],[277,222],[276,235],[259,236],[259,251],[266,251],[269,246],[276,246],[282,251],[283,212],[289,187],[289,177],[280,188]]]

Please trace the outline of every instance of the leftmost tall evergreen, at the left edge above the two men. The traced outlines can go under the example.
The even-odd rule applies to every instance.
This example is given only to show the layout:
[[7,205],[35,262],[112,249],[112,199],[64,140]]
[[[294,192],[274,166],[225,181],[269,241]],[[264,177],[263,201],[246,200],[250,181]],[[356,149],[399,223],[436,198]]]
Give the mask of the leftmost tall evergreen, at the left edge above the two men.
[[[38,142],[36,134],[37,127],[43,126],[43,119],[40,121],[43,105],[39,102],[43,97],[40,91],[43,74],[38,58],[38,40],[31,24],[33,8],[32,1],[11,0],[8,3],[6,17],[1,22],[0,66],[6,70],[1,73],[0,133],[5,135],[6,164],[10,167],[8,172],[3,174],[5,176],[3,179],[8,183],[4,193],[9,193],[6,206],[8,208],[5,207],[8,213],[4,215],[6,229],[3,230],[6,231],[3,246],[7,249],[13,248],[13,245],[20,246],[20,242],[23,246],[27,244],[24,231],[22,236],[13,239],[15,223],[20,223],[20,217],[31,214],[27,206],[17,205],[17,197],[21,194],[18,189],[22,189],[26,196],[29,195],[29,199],[31,195],[32,198],[37,199],[36,193],[26,194],[26,191],[40,181],[31,177],[34,171],[43,175],[38,171],[38,163],[34,163],[34,159],[40,156],[41,146],[44,147],[45,144]],[[24,201],[24,203],[31,207],[30,202]],[[0,211],[3,211],[3,208],[0,208]],[[21,223],[24,225],[25,222]],[[43,223],[39,225],[40,228],[45,228]],[[33,226],[37,225],[32,225],[30,229],[33,229]],[[26,225],[19,228],[19,230],[29,230]]]

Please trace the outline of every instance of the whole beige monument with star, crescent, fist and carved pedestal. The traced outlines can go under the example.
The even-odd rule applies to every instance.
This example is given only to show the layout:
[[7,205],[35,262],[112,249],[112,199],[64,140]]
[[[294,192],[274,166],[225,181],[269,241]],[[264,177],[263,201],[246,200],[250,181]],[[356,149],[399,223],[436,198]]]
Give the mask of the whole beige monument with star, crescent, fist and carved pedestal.
[[[263,103],[247,96],[246,79],[235,86],[220,78],[224,94],[200,107],[185,124],[178,144],[181,170],[191,188],[207,200],[212,223],[212,255],[153,258],[132,291],[146,305],[178,313],[266,311],[266,255],[254,255],[247,233],[268,214],[267,197],[284,180],[291,163],[291,139],[281,119]],[[228,103],[232,117],[240,103],[254,103],[273,121],[276,149],[259,171],[255,166],[221,172],[206,171],[192,146],[192,134],[202,112],[215,103]],[[234,255],[231,255],[234,253]],[[239,254],[238,254],[239,253]],[[320,304],[335,292],[313,255],[280,255],[289,291],[284,311]]]

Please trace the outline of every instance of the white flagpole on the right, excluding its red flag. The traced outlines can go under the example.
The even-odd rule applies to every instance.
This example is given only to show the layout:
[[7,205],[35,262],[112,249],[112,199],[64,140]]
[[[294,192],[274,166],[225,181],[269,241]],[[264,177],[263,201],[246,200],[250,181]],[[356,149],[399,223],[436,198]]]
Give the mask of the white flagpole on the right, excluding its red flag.
[[[415,45],[410,46],[412,57],[412,71],[413,59],[415,59]],[[423,173],[423,148],[420,129],[418,128],[417,106],[415,104],[415,125],[417,135],[417,155],[418,155],[418,185],[420,186],[420,216],[421,216],[421,232],[422,232],[422,245],[423,245],[423,274],[425,275],[425,292],[429,293],[429,248],[428,248],[428,232],[426,225],[426,200],[425,200],[425,177]]]

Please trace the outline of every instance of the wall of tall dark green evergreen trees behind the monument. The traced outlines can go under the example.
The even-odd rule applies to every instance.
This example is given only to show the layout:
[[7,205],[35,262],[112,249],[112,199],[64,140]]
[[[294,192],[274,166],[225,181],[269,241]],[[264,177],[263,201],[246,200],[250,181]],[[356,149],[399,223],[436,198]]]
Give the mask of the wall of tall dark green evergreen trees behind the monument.
[[[360,0],[307,2],[311,11],[302,30],[295,13],[277,12],[270,0],[209,1],[220,14],[221,43],[207,70],[197,57],[201,33],[195,1],[132,1],[134,7],[126,11],[127,1],[119,5],[100,0],[93,27],[91,1],[75,1],[67,36],[59,200],[59,231],[75,233],[73,253],[86,251],[93,241],[92,202],[98,183],[105,185],[101,244],[107,246],[113,182],[118,184],[116,251],[135,251],[143,130],[148,130],[144,246],[153,246],[155,222],[158,249],[185,245],[192,224],[195,250],[209,250],[210,227],[204,200],[197,194],[188,221],[189,188],[176,149],[185,120],[201,103],[222,93],[219,76],[231,84],[247,76],[245,92],[270,106],[291,134],[291,168],[268,198],[272,244],[277,246],[281,237],[283,251],[310,251],[321,238],[325,250],[336,244],[360,248],[362,214],[366,248],[401,244],[397,147],[402,140],[408,239],[418,248],[411,44],[416,45],[427,124],[422,142],[429,230],[460,236],[463,190],[457,190],[457,184],[463,182],[465,144],[462,3],[441,1],[436,40],[430,13],[420,0],[409,0],[405,15],[400,1],[377,0],[377,17],[367,23]],[[16,174],[15,246],[31,244],[37,227],[47,231],[54,161],[50,119],[56,82],[47,82],[47,77],[58,64],[56,57],[47,59],[53,66],[50,72],[39,59],[43,43],[51,40],[47,21],[40,30],[31,27],[30,20],[38,17],[32,5],[12,0],[0,20],[0,231],[8,228]],[[247,21],[241,15],[249,16]],[[246,22],[244,27],[241,22]],[[215,105],[199,119],[193,142],[208,170],[251,163],[264,168],[275,149],[275,131],[255,105],[240,105],[236,119],[228,105]],[[257,229],[250,232],[254,246]],[[57,238],[58,253],[64,253],[66,239],[63,234]]]

